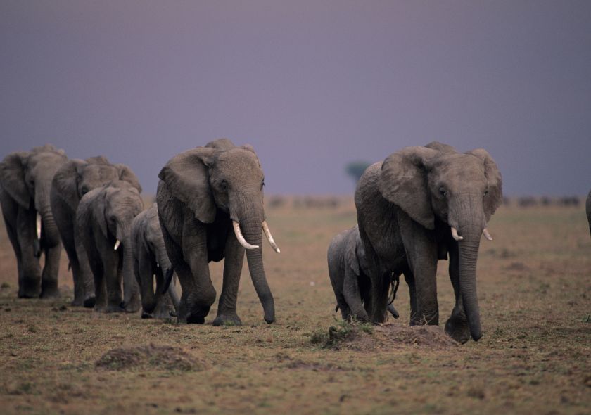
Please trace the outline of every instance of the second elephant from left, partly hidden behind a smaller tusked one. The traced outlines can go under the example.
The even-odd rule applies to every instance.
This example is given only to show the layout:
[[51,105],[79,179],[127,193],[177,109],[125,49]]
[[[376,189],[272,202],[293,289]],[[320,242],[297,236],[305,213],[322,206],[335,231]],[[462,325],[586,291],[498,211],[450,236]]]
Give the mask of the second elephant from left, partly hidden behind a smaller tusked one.
[[141,193],[139,181],[129,167],[112,165],[102,156],[68,161],[56,172],[51,183],[51,211],[74,279],[72,305],[94,307],[94,279],[84,246],[75,231],[76,210],[84,194],[113,180],[128,181]]

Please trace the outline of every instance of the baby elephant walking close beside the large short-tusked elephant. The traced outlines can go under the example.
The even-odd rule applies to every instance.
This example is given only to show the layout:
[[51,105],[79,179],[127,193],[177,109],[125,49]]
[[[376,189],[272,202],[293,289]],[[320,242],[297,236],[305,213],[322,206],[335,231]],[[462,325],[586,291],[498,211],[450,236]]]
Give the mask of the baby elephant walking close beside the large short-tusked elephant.
[[[371,301],[370,281],[367,272],[364,272],[369,267],[357,226],[333,238],[328,261],[336,309],[341,309],[343,320],[355,318],[369,321],[366,308]],[[399,314],[392,304],[388,305],[388,311],[398,319]]]

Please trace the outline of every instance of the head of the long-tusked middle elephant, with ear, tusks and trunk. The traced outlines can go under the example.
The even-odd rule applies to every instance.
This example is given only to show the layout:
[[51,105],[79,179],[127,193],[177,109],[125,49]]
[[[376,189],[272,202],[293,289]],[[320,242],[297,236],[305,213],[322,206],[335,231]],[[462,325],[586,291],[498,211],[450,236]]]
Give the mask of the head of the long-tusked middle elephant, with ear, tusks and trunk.
[[274,250],[279,252],[279,248],[265,222],[264,174],[253,148],[236,147],[227,139],[212,141],[175,156],[158,177],[198,221],[210,224],[220,211],[229,215],[236,238],[246,248],[248,269],[265,310],[265,321],[274,321],[274,300],[262,264],[262,232]]

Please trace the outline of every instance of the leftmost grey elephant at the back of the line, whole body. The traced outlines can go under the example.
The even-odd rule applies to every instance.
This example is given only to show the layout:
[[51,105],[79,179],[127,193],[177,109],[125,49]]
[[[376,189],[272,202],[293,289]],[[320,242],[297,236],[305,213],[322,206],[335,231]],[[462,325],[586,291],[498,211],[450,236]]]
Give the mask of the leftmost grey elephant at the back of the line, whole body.
[[[6,231],[17,260],[20,298],[59,296],[60,237],[49,203],[51,179],[68,161],[53,146],[11,153],[0,163],[0,204]],[[37,239],[36,216],[42,217]],[[39,265],[45,254],[43,270]]]

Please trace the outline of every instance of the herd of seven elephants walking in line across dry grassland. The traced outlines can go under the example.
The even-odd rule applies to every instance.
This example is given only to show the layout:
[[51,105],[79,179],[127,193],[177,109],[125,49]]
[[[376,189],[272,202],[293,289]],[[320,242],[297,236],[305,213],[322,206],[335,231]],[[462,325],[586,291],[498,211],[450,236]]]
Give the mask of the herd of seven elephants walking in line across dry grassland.
[[[275,321],[262,235],[279,248],[265,220],[265,178],[253,148],[217,139],[175,155],[158,178],[156,203],[144,210],[139,181],[125,165],[104,157],[68,160],[49,145],[7,155],[0,203],[18,264],[18,296],[59,295],[63,245],[72,305],[141,308],[142,317],[203,324],[216,298],[209,262],[224,259],[213,324],[241,324],[236,298],[246,253],[264,319]],[[501,174],[482,149],[458,153],[434,142],[368,167],[355,191],[357,225],[328,250],[343,319],[380,323],[386,311],[398,317],[391,302],[404,275],[410,324],[439,324],[436,267],[449,259],[455,307],[445,331],[462,343],[481,338],[478,246],[481,235],[492,239],[486,226],[501,202]]]

